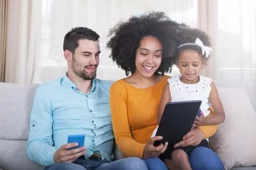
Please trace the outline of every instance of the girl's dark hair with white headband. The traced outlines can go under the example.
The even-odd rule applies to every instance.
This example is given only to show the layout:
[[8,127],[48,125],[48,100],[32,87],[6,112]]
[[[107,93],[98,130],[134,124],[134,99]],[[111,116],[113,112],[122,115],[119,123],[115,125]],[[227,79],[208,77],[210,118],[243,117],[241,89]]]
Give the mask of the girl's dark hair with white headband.
[[189,28],[187,26],[182,28],[182,30],[178,33],[176,61],[183,51],[191,49],[197,51],[203,59],[208,59],[209,55],[207,55],[206,52],[202,54],[201,46],[195,44],[197,39],[199,39],[199,41],[201,41],[203,46],[205,46],[207,49],[211,47],[210,37],[206,32],[195,28]]

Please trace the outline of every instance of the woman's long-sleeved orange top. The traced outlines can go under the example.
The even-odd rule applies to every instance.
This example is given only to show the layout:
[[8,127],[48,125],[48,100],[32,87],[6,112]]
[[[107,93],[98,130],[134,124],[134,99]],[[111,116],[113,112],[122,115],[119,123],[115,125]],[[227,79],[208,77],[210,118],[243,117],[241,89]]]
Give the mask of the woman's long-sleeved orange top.
[[[157,126],[157,112],[167,76],[149,88],[136,88],[121,79],[110,88],[110,110],[116,144],[126,156],[143,157],[145,144]],[[217,126],[201,128],[206,138]]]

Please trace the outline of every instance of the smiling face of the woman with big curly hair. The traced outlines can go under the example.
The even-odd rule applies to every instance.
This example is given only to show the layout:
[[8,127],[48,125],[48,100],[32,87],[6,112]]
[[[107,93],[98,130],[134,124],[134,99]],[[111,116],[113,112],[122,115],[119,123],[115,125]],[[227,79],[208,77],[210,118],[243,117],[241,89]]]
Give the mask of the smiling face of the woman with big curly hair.
[[156,37],[143,37],[136,52],[136,73],[152,77],[162,61],[162,45]]

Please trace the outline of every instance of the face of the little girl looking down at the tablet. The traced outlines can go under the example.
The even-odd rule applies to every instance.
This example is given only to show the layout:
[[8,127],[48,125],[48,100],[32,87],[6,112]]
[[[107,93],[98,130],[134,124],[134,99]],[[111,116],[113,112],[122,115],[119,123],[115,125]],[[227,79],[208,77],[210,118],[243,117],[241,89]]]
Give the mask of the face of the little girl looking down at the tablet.
[[184,50],[177,60],[177,67],[182,74],[181,81],[187,84],[199,81],[199,76],[204,66],[205,60],[193,49]]

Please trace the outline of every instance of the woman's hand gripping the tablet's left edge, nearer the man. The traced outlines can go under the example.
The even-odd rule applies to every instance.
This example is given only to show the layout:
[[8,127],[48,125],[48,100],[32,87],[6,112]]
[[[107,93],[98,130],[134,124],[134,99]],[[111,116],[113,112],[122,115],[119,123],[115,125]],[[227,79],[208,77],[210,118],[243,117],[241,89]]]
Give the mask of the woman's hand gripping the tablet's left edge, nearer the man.
[[159,146],[154,147],[154,141],[163,139],[161,136],[154,136],[151,138],[148,143],[145,145],[144,151],[143,151],[143,157],[157,157],[160,156],[160,154],[164,153],[167,149],[168,143],[166,144],[160,144]]

